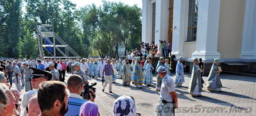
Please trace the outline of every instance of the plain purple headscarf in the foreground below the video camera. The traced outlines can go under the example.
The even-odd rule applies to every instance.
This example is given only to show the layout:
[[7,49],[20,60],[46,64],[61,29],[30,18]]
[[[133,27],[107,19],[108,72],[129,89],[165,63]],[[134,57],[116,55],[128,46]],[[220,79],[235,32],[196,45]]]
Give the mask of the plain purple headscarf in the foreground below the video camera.
[[98,116],[98,105],[87,101],[81,105],[79,114],[83,114],[83,116]]

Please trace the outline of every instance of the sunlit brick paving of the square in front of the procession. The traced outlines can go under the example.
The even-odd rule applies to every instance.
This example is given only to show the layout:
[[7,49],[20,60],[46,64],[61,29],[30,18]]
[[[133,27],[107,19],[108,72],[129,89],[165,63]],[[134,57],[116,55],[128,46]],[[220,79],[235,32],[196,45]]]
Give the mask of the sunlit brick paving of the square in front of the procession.
[[[68,76],[69,74],[67,74]],[[175,79],[175,76],[171,76]],[[67,78],[66,78],[67,79]],[[207,81],[207,77],[203,77]],[[190,75],[185,75],[183,87],[176,87],[178,94],[178,106],[175,115],[255,115],[256,113],[256,78],[246,76],[221,75],[223,92],[209,92],[205,85],[201,97],[192,97],[187,92]],[[102,83],[98,79],[90,79],[90,83],[97,82],[96,85],[96,103],[99,106],[99,112],[103,116],[112,115],[114,101],[120,95],[132,95],[135,98],[137,113],[142,116],[156,115],[156,108],[159,102],[159,94],[155,91],[156,78],[153,78],[151,87],[142,88],[123,87],[121,79],[117,79],[112,85],[112,91],[102,92]],[[13,86],[14,87],[14,86]],[[24,89],[22,89],[24,93]]]

